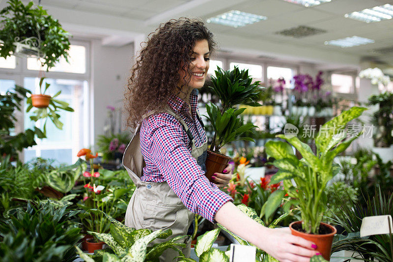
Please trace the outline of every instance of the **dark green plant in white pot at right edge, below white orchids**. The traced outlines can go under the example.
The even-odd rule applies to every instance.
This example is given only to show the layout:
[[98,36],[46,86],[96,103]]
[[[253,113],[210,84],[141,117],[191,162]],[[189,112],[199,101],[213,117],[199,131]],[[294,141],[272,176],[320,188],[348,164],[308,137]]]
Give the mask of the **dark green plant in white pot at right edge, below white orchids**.
[[378,105],[373,113],[371,123],[374,126],[373,138],[375,153],[379,154],[383,162],[393,160],[393,93],[384,92],[371,95],[369,105]]

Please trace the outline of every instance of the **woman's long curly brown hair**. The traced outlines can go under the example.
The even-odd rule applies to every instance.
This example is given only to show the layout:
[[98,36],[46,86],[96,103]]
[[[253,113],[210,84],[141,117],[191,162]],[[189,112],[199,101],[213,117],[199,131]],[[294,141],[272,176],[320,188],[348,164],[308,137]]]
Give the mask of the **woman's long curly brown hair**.
[[210,54],[215,51],[213,33],[203,21],[186,17],[160,24],[148,35],[148,41],[143,42],[146,45],[131,69],[124,93],[127,127],[136,128],[144,114],[150,110],[164,110],[169,96],[182,92],[183,86],[177,86],[179,70],[185,72],[187,85],[192,75],[189,67],[191,55],[198,40],[207,40]]

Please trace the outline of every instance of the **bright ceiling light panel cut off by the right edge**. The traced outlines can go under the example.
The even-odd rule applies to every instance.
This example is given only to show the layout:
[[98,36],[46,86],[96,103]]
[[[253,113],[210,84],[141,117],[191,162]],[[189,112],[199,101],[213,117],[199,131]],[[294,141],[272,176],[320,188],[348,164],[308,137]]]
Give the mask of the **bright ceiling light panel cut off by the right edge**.
[[345,14],[344,17],[359,20],[365,23],[379,22],[393,18],[393,5],[384,4],[372,8],[363,9],[362,11]]

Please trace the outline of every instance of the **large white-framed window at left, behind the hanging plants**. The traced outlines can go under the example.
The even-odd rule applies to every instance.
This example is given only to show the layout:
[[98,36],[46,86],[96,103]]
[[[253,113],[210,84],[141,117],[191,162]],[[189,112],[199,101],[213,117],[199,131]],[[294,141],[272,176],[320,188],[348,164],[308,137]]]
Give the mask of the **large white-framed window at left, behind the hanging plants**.
[[[48,157],[57,160],[57,163],[72,164],[77,161],[78,150],[88,147],[90,141],[90,118],[89,116],[89,79],[90,72],[87,64],[89,45],[84,42],[73,41],[70,47],[68,64],[61,58],[56,65],[46,72],[41,68],[41,63],[36,58],[0,58],[0,92],[16,85],[23,86],[32,93],[39,93],[39,77],[43,70],[45,81],[51,86],[46,93],[53,95],[58,90],[61,94],[57,97],[66,101],[75,112],[61,111],[59,120],[63,123],[63,129],[59,130],[47,120],[47,138],[37,139],[36,146],[29,147],[23,152],[23,161],[26,162],[34,157]],[[26,109],[26,101],[25,101]],[[43,128],[44,121],[31,121],[29,113],[17,114],[15,132],[23,132],[28,128],[37,126]]]

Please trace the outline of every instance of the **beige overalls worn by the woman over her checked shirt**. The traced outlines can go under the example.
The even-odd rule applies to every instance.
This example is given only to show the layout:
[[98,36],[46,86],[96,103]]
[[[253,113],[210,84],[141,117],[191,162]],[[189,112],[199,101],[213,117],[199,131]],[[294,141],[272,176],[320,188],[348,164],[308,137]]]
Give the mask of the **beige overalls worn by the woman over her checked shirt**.
[[[197,159],[198,165],[206,172],[207,137],[203,145],[197,147],[187,124],[169,108],[165,113],[174,116],[182,124],[190,139],[190,146],[192,144],[191,155]],[[143,118],[153,114],[157,114],[157,112],[150,111]],[[199,115],[197,115],[197,119],[203,126]],[[175,236],[187,234],[187,230],[193,222],[194,213],[184,206],[168,183],[144,182],[140,180],[143,167],[145,166],[140,150],[140,125],[136,128],[135,135],[124,152],[123,165],[137,186],[127,207],[125,225],[136,229],[172,230],[172,235],[168,239],[156,239],[151,244],[162,243]],[[187,172],[187,170],[184,172]],[[190,257],[191,237],[181,239],[179,242],[187,245],[182,251],[186,257]],[[179,256],[178,252],[167,249],[160,257],[160,262],[172,262],[177,256]]]

